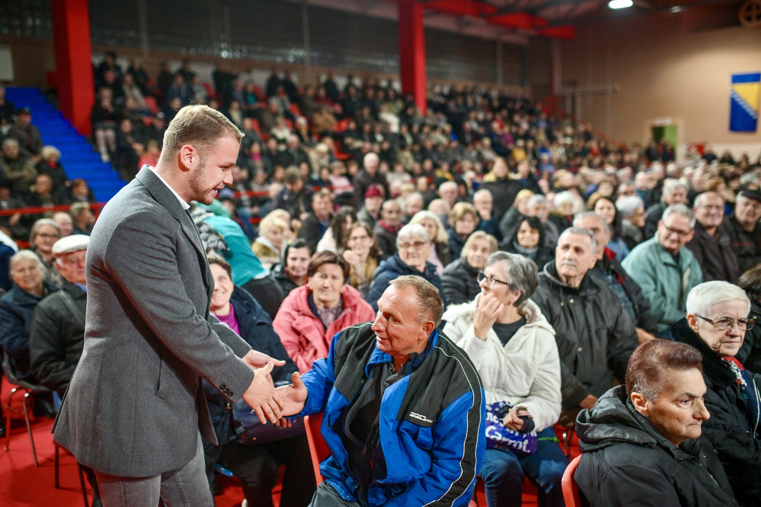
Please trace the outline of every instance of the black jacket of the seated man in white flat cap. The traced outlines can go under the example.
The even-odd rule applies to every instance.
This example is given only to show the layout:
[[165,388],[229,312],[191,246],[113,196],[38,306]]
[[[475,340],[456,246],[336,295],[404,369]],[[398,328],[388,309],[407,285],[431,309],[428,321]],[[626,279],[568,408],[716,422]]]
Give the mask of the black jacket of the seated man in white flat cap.
[[[81,315],[73,315],[64,303],[71,297]],[[63,392],[72,380],[84,347],[84,315],[88,293],[63,281],[62,290],[46,296],[32,313],[29,354],[32,374],[41,385]]]

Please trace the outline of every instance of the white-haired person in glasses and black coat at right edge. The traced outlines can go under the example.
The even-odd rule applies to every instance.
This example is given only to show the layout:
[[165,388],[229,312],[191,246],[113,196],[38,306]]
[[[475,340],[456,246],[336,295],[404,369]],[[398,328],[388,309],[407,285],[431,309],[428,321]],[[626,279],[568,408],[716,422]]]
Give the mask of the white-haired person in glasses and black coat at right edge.
[[745,333],[750,299],[728,282],[697,285],[687,296],[687,315],[671,325],[673,341],[695,347],[703,357],[708,391],[705,407],[711,418],[702,423],[740,505],[761,505],[761,375],[748,371],[737,352]]

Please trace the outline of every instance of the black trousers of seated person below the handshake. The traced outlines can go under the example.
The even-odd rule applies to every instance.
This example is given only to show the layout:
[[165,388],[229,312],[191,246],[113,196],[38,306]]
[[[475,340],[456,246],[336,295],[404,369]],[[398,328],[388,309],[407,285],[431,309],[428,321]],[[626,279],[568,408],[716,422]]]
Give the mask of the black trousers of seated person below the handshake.
[[309,505],[317,483],[306,435],[262,445],[235,441],[221,447],[218,464],[240,478],[243,494],[251,507],[272,507],[272,488],[278,482],[280,465],[285,465],[280,506]]

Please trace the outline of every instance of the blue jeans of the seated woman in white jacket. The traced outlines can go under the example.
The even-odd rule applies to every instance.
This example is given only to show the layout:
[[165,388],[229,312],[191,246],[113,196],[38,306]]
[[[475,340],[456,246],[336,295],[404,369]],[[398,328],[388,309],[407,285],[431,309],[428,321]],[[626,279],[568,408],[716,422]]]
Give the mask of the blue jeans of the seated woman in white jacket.
[[524,458],[501,449],[486,449],[481,477],[486,486],[488,507],[520,507],[524,477],[537,486],[539,507],[565,505],[560,480],[568,460],[554,441],[552,427],[543,429],[537,436],[540,438],[537,452]]

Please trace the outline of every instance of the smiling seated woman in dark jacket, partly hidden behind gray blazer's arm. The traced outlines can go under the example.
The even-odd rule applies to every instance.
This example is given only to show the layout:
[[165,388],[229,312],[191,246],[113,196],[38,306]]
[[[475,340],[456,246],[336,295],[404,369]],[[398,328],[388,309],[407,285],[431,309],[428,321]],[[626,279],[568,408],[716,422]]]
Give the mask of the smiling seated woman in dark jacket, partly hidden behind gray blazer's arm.
[[[217,255],[209,256],[209,268],[214,276],[214,294],[211,312],[233,331],[240,334],[251,347],[269,356],[285,360],[285,366],[272,371],[275,386],[291,383],[291,375],[298,367],[288,357],[278,334],[272,328],[269,315],[256,299],[232,281],[232,269],[227,261]],[[227,400],[204,382],[206,404],[217,434],[219,445],[204,440],[206,471],[212,478],[215,464],[231,470],[243,486],[243,493],[249,505],[272,507],[272,488],[278,481],[278,469],[285,465],[283,489],[280,497],[282,507],[303,507],[310,502],[316,484],[314,470],[309,455],[309,444],[305,433],[293,435],[258,445],[247,445],[238,436],[242,433],[240,422],[231,417],[231,406]],[[272,430],[269,425],[263,429]]]

